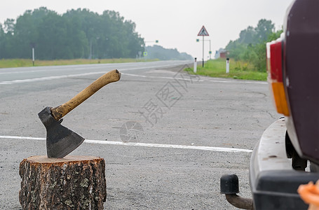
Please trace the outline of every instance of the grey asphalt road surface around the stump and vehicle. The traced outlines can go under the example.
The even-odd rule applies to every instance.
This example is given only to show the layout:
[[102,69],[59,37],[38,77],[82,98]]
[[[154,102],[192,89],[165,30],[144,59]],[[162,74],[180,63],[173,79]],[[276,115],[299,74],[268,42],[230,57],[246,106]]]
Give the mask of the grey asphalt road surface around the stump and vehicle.
[[235,209],[219,193],[236,173],[251,197],[251,151],[276,114],[265,82],[190,76],[186,62],[0,69],[0,209],[20,209],[19,163],[46,155],[37,113],[103,73],[122,78],[65,116],[86,138],[70,155],[106,161],[104,209]]

